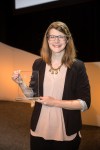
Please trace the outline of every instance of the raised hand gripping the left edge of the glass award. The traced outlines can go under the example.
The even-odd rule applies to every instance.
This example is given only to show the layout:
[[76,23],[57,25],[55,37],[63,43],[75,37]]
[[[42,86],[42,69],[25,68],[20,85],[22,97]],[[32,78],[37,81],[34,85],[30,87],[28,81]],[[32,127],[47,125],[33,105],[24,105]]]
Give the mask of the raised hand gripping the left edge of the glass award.
[[16,83],[22,83],[22,77],[20,75],[20,70],[16,70],[13,72],[13,75],[12,75],[12,79],[16,82]]

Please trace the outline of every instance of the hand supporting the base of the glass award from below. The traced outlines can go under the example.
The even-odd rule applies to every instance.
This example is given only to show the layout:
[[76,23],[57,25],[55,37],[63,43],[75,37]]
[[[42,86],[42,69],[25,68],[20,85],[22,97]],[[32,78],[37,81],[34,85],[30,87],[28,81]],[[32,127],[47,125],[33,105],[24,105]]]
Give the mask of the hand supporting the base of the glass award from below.
[[57,100],[50,96],[41,96],[38,100],[36,100],[36,102],[47,106],[56,106]]

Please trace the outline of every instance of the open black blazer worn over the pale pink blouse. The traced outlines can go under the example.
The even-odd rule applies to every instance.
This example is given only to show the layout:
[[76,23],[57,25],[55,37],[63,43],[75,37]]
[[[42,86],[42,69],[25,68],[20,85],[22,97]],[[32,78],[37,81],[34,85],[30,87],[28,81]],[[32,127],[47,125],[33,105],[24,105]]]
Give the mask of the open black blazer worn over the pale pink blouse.
[[[41,59],[35,60],[33,63],[33,70],[39,71],[39,92],[43,96],[43,80],[45,74],[46,63]],[[30,87],[34,90],[33,78],[30,81]],[[62,100],[76,100],[82,99],[86,102],[88,108],[91,103],[90,84],[86,73],[85,65],[82,61],[76,60],[71,68],[67,69],[64,91]],[[31,129],[34,131],[38,122],[41,112],[41,104],[36,103],[32,117]],[[81,111],[80,110],[67,110],[63,109],[63,116],[66,128],[66,134],[72,135],[78,132],[82,127]],[[45,122],[44,122],[45,126]]]

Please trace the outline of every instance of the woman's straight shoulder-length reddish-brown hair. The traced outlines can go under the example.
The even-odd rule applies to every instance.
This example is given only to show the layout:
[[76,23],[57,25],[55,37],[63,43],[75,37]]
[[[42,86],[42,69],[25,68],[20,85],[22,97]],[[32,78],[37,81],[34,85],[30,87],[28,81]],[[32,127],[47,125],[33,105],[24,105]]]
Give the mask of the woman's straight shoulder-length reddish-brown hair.
[[68,42],[65,47],[65,53],[62,58],[62,64],[65,64],[66,66],[71,67],[71,65],[73,64],[73,62],[75,61],[75,58],[76,58],[76,49],[75,49],[74,41],[73,41],[73,38],[72,38],[69,28],[67,27],[67,25],[65,23],[63,23],[61,21],[53,22],[47,28],[47,30],[44,34],[42,48],[40,51],[42,59],[48,65],[51,64],[52,52],[48,45],[48,35],[49,35],[49,31],[51,29],[56,29],[66,35]]

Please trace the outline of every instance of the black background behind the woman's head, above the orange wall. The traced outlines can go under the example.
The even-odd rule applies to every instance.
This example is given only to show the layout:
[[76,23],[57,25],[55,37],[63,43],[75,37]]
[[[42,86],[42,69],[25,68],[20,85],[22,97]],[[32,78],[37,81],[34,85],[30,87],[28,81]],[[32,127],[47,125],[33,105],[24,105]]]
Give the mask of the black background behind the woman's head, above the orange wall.
[[0,42],[39,55],[48,25],[59,20],[68,25],[78,58],[100,61],[98,10],[96,0],[62,0],[19,10],[14,0],[0,0]]

